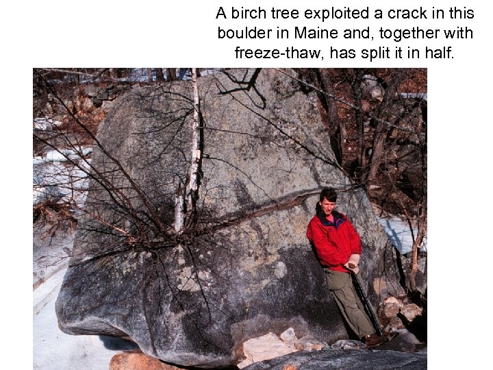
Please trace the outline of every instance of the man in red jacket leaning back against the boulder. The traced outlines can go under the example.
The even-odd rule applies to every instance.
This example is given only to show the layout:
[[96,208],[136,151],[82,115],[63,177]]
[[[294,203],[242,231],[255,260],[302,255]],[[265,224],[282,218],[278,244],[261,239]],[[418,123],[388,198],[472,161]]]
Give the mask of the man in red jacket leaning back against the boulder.
[[375,333],[351,278],[350,271],[359,273],[362,253],[359,235],[346,215],[334,210],[336,201],[337,193],[333,188],[322,190],[316,215],[307,227],[307,237],[316,250],[329,289],[351,330],[366,345],[381,345],[388,338]]

